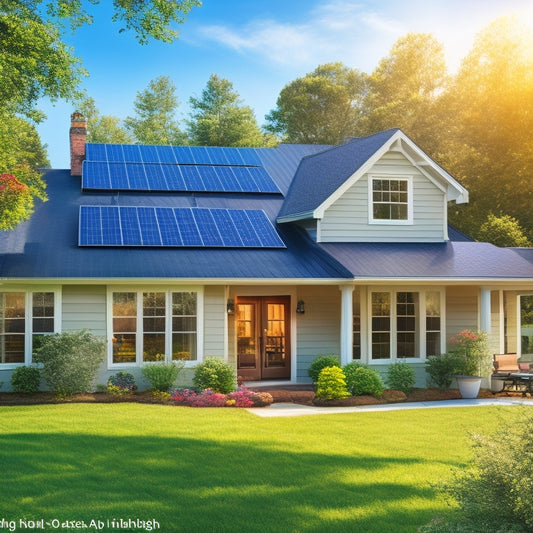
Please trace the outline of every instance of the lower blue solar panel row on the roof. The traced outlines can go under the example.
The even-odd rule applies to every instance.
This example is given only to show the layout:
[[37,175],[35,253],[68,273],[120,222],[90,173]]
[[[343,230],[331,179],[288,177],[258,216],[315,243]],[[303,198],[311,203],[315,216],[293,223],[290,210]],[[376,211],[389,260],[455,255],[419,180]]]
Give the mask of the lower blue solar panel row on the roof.
[[80,206],[79,246],[285,248],[265,212]]

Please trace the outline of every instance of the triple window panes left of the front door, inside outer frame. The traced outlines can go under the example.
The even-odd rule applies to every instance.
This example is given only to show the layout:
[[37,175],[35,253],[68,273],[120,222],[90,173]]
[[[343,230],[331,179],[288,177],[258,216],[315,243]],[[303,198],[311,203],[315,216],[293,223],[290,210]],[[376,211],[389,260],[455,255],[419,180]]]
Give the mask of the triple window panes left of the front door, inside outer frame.
[[111,301],[111,364],[197,360],[197,292],[112,292]]

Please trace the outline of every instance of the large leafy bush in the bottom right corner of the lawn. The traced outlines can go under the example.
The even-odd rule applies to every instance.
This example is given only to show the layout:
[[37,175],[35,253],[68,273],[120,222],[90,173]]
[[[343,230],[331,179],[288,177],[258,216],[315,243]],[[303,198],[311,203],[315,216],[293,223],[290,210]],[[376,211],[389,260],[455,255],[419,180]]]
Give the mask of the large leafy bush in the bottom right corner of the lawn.
[[473,435],[472,462],[440,490],[459,509],[451,522],[434,520],[421,531],[533,531],[533,415],[505,421],[491,435]]

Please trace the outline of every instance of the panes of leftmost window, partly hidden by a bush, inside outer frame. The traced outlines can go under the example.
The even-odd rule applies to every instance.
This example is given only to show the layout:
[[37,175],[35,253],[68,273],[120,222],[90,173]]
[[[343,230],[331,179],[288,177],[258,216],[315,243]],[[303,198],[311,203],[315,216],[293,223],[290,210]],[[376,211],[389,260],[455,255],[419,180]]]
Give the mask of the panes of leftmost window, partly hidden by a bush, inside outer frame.
[[0,292],[0,365],[29,364],[43,335],[55,333],[56,293]]

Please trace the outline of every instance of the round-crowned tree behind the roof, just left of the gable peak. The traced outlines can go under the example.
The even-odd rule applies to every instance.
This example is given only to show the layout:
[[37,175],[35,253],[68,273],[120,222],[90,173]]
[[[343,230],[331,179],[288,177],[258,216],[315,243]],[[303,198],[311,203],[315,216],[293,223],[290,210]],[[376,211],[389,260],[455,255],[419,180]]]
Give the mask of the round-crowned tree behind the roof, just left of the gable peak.
[[281,90],[265,129],[286,142],[339,144],[355,134],[365,93],[365,74],[321,65]]

